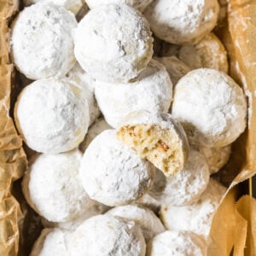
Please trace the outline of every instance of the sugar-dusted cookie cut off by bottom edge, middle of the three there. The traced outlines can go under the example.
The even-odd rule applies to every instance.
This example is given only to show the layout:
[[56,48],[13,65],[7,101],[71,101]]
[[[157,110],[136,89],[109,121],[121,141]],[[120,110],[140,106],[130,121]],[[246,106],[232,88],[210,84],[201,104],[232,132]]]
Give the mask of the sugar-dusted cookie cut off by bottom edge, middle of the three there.
[[139,226],[111,215],[87,219],[73,233],[69,248],[71,256],[144,256],[146,253],[143,232]]

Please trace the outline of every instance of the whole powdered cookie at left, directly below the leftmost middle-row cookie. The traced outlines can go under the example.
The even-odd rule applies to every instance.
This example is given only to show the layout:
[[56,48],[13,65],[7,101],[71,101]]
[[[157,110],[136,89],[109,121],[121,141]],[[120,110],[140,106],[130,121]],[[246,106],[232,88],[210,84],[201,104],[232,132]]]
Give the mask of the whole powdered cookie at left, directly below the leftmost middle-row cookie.
[[29,205],[49,221],[67,222],[79,218],[93,206],[79,180],[82,154],[41,154],[26,172],[23,194]]

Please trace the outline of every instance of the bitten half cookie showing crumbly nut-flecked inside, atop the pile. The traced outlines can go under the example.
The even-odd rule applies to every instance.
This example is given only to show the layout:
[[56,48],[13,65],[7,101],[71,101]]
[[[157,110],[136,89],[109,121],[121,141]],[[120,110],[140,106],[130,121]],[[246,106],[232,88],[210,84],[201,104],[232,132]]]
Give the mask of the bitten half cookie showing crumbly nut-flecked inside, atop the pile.
[[117,137],[167,177],[181,171],[188,158],[186,134],[169,113],[130,113],[120,124]]

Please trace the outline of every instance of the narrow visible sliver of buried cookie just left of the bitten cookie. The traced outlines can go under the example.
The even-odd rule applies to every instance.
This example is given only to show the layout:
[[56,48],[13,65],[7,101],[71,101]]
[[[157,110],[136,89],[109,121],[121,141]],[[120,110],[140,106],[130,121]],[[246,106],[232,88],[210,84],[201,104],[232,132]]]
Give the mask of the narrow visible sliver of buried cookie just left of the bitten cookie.
[[88,132],[84,137],[84,141],[79,145],[79,149],[84,152],[88,148],[89,144],[97,137],[102,131],[111,129],[104,118],[96,119],[96,122],[90,126]]

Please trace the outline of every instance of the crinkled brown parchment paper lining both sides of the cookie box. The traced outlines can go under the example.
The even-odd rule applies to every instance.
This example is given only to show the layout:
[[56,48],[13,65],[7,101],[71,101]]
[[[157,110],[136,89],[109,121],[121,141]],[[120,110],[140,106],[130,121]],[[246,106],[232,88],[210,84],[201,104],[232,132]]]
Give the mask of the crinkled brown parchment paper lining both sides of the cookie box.
[[[225,1],[221,1],[226,5]],[[13,183],[26,170],[22,141],[9,116],[10,96],[15,101],[14,67],[9,60],[9,23],[19,9],[18,1],[0,0],[0,255],[28,251],[29,237],[38,236],[34,212]],[[256,255],[256,203],[249,196],[237,201],[237,184],[256,173],[256,0],[230,0],[228,20],[216,29],[230,58],[230,75],[245,89],[248,99],[248,129],[234,143],[227,166],[215,178],[229,187],[212,222],[209,256]],[[255,85],[256,87],[256,85]],[[254,114],[253,114],[254,113]],[[19,188],[19,186],[17,186]],[[13,192],[13,195],[11,194]],[[14,196],[15,195],[15,196]],[[18,198],[16,201],[15,198]],[[22,213],[20,211],[22,209]],[[38,224],[38,223],[37,223]],[[20,230],[19,230],[20,227]],[[22,235],[22,236],[20,236]],[[19,249],[20,246],[20,249]],[[22,247],[22,248],[21,248]]]

